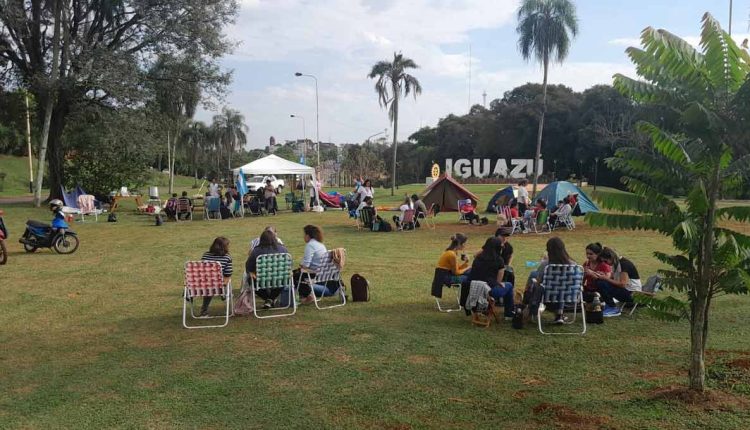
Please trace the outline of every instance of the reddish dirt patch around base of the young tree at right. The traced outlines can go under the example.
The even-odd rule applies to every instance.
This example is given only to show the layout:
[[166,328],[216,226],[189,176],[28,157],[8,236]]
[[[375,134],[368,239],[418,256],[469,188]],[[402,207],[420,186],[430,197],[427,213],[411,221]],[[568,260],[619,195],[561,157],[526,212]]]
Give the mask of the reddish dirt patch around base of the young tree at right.
[[683,386],[670,385],[651,392],[651,398],[666,402],[682,403],[690,409],[700,411],[742,411],[750,408],[750,400],[724,391],[698,392]]

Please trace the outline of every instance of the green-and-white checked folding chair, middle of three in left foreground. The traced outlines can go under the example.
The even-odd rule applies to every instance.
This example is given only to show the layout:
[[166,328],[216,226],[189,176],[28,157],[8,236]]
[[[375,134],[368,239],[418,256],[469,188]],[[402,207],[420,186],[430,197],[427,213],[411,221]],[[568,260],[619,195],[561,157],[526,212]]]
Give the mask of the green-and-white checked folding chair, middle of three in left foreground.
[[[255,277],[250,279],[250,288],[253,289],[253,315],[260,319],[294,315],[297,312],[297,303],[294,301],[292,256],[289,254],[265,254],[259,256],[256,261]],[[281,308],[269,309],[264,311],[265,315],[259,315],[258,305],[255,303],[255,292],[263,289],[281,289],[281,294],[289,294],[289,304]],[[289,308],[292,308],[292,312],[277,312]]]

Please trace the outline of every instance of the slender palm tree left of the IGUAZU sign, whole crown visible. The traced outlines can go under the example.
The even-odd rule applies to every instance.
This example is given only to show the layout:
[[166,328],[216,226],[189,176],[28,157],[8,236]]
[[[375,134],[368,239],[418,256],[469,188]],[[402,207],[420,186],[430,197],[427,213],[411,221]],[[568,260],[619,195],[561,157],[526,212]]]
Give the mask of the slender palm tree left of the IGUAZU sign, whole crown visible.
[[404,57],[400,52],[393,53],[393,62],[378,61],[372,66],[370,79],[376,79],[375,92],[378,93],[378,103],[381,107],[388,107],[388,119],[393,122],[393,177],[391,182],[391,195],[396,188],[396,148],[398,145],[398,100],[401,98],[403,91],[404,97],[414,93],[416,100],[417,94],[422,93],[422,85],[414,76],[406,73],[408,69],[418,69],[419,66],[410,58]]

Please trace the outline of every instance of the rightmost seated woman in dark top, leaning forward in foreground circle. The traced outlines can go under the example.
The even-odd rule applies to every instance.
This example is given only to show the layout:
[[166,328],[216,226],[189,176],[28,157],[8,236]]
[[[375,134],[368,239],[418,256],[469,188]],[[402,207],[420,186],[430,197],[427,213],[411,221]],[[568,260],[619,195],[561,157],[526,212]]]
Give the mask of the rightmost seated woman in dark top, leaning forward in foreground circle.
[[597,290],[606,304],[603,315],[620,316],[621,309],[615,304],[615,300],[622,303],[632,302],[633,291],[641,291],[641,276],[633,262],[625,257],[619,257],[611,248],[605,247],[602,250],[601,259],[612,266],[611,276],[594,276]]

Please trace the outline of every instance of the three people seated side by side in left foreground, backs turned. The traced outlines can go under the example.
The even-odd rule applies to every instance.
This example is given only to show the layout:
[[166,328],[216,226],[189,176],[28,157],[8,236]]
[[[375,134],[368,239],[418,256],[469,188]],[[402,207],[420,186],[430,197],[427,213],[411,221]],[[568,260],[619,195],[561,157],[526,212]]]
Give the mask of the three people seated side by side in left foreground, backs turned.
[[[311,272],[310,277],[314,280],[314,272],[321,267],[326,257],[326,253],[328,252],[326,246],[323,244],[323,231],[319,227],[306,225],[302,229],[302,232],[303,240],[305,241],[305,251],[302,260],[300,261],[299,268],[293,271],[292,276],[295,288],[299,285],[297,292],[299,293],[300,304],[307,304],[315,301],[315,298],[312,296],[313,293],[318,296],[333,295],[338,288],[338,283],[330,282],[323,286],[311,286],[306,282],[307,277],[300,279],[302,278],[302,271],[305,270]],[[277,236],[276,229],[273,226],[264,228],[259,237],[250,241],[250,250],[248,258],[245,261],[245,272],[247,273],[247,276],[255,277],[257,271],[257,259],[261,255],[286,253],[289,253],[289,251],[284,245],[284,242],[282,242]],[[233,273],[232,256],[229,253],[229,239],[222,236],[214,239],[211,247],[203,254],[201,260],[218,262],[222,268],[224,284],[227,285],[229,283]],[[264,309],[270,309],[277,306],[286,307],[289,305],[289,303],[284,303],[284,300],[288,298],[288,290],[259,289],[255,291],[255,294],[264,300]],[[200,316],[208,315],[208,307],[210,304],[211,297],[204,297]]]

